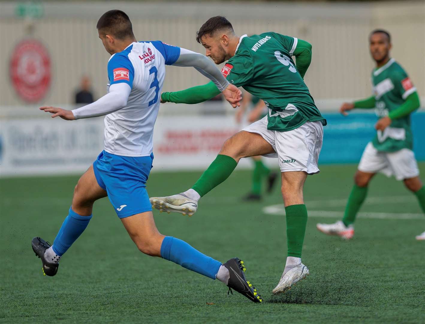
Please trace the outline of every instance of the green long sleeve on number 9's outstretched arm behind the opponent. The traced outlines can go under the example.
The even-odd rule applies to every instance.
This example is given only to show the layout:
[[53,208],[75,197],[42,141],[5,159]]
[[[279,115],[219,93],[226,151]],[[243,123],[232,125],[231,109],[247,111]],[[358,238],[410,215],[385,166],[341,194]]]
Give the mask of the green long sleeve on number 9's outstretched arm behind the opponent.
[[210,81],[204,85],[187,88],[181,91],[163,92],[161,100],[165,102],[195,104],[207,101],[220,94],[220,90]]

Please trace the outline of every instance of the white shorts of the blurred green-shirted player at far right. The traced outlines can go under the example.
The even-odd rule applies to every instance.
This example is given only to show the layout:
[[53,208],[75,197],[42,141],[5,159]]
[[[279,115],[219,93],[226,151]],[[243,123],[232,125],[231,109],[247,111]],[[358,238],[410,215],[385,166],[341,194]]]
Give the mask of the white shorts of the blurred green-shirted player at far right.
[[359,171],[383,173],[404,180],[419,176],[419,168],[412,150],[402,148],[396,152],[380,152],[371,142],[366,145],[358,166]]

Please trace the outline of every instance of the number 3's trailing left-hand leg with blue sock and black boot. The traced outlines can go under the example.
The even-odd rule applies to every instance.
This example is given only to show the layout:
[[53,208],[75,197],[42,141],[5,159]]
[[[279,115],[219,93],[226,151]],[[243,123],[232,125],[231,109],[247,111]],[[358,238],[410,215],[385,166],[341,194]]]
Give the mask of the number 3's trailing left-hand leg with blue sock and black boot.
[[40,237],[34,237],[31,241],[34,253],[42,261],[42,270],[45,275],[54,276],[57,273],[59,260],[63,253],[87,227],[92,216],[94,202],[106,196],[106,191],[100,188],[96,181],[93,166],[90,166],[75,186],[72,206],[54,244],[50,245]]

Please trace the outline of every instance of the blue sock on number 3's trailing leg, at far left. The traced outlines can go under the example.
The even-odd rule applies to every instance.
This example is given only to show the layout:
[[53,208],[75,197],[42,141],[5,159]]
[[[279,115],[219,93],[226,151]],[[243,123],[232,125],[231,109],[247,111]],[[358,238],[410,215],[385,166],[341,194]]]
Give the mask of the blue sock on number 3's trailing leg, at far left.
[[69,249],[72,243],[78,239],[81,233],[84,232],[92,216],[93,215],[80,216],[74,212],[72,208],[69,208],[69,214],[66,216],[56,238],[54,239],[54,253],[58,256],[62,256],[62,254]]

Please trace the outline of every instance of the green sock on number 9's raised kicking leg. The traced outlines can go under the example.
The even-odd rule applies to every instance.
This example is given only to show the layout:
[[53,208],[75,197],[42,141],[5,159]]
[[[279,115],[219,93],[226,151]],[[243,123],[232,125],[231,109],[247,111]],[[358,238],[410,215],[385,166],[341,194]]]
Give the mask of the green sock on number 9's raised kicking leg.
[[236,165],[238,165],[238,162],[232,157],[218,154],[208,169],[202,173],[201,177],[193,185],[192,189],[199,193],[199,196],[204,196],[226,180],[235,170]]

